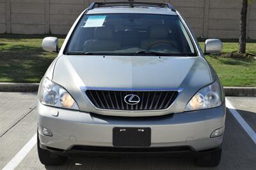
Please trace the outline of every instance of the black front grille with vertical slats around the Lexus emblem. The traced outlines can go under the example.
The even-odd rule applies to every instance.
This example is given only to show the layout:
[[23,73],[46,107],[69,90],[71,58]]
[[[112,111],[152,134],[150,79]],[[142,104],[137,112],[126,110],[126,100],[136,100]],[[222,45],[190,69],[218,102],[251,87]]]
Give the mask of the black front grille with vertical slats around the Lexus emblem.
[[[138,104],[127,104],[124,97],[135,94],[140,97]],[[178,96],[177,91],[113,91],[86,90],[86,95],[100,109],[106,110],[164,110]]]

